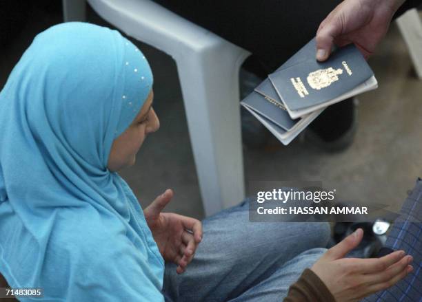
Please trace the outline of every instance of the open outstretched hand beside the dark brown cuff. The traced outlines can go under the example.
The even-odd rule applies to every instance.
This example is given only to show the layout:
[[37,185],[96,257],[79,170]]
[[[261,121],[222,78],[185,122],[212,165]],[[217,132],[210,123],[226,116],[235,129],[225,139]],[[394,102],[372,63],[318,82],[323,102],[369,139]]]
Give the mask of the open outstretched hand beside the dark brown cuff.
[[359,301],[379,290],[385,290],[413,270],[412,256],[403,250],[381,258],[343,258],[359,245],[360,228],[333,246],[312,266],[311,270],[325,283],[337,302]]

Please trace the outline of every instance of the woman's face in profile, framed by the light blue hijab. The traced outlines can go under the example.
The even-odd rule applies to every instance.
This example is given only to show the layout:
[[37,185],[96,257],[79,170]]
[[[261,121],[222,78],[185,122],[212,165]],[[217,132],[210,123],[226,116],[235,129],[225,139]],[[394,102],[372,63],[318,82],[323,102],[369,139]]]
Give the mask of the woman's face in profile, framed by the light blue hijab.
[[110,171],[119,171],[125,167],[132,166],[145,137],[148,133],[159,129],[160,121],[154,109],[152,109],[153,98],[154,94],[151,90],[132,124],[114,140],[110,157],[108,158],[108,169]]

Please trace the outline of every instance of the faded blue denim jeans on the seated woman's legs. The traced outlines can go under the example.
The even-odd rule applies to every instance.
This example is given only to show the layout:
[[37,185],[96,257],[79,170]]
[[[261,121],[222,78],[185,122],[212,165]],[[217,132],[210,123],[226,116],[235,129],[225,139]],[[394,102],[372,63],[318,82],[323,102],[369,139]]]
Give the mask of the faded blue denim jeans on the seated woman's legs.
[[183,274],[165,263],[165,301],[283,301],[323,255],[328,223],[249,222],[248,200],[203,220],[203,240]]

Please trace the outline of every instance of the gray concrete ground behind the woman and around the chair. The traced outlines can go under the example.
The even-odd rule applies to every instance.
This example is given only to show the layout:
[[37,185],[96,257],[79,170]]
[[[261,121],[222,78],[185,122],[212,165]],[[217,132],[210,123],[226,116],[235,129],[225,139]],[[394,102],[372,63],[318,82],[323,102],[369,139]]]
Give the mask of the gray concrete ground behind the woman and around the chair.
[[[107,25],[90,11],[88,21]],[[61,22],[61,15],[36,10],[19,36],[1,50],[0,87],[35,34]],[[173,188],[167,211],[203,217],[183,99],[172,58],[137,43],[154,72],[154,109],[161,129],[148,137],[137,163],[121,175],[143,206]],[[422,81],[412,72],[403,39],[393,24],[370,59],[379,89],[359,96],[359,129],[350,149],[325,153],[300,140],[284,147],[273,139],[260,150],[243,148],[245,182],[319,180],[341,199],[378,202],[399,208],[406,191],[422,175]],[[240,202],[240,200],[239,200]]]

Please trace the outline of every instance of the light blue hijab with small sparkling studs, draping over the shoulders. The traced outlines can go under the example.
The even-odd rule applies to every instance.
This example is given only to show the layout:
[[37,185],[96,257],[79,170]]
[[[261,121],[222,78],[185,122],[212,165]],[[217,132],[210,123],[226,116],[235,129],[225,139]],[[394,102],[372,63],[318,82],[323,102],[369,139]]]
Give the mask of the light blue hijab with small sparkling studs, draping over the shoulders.
[[0,93],[0,273],[12,288],[43,288],[43,301],[163,300],[143,211],[107,169],[151,88],[145,56],[97,25],[53,26],[23,54]]

